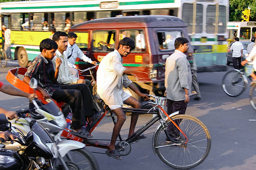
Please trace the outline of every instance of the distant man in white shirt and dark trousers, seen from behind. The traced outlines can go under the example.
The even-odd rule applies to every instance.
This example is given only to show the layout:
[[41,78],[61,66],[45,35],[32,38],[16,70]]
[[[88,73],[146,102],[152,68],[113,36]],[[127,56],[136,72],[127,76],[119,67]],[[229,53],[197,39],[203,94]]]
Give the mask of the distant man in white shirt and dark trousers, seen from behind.
[[[232,58],[233,58],[233,67],[235,69],[241,69],[241,59],[243,55],[243,44],[239,42],[239,38],[235,37],[235,41],[231,47],[230,50],[233,50]],[[238,61],[238,66],[237,66],[237,61]]]

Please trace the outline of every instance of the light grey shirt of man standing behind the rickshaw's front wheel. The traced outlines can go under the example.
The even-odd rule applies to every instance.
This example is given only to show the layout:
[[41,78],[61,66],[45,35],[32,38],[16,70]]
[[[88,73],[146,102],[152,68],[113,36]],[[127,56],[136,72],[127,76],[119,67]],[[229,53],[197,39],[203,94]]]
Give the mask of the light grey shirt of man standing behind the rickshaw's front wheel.
[[169,100],[181,101],[185,100],[185,91],[187,88],[190,95],[192,75],[190,71],[189,61],[186,55],[175,50],[172,55],[166,59],[165,65],[165,88],[167,98]]

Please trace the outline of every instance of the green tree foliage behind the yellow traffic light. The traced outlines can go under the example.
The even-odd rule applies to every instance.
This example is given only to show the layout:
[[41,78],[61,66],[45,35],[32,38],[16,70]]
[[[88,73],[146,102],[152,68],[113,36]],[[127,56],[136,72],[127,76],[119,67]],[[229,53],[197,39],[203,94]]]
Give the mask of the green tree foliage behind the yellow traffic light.
[[256,0],[229,0],[229,21],[241,21],[242,11],[251,8],[250,21],[256,21]]

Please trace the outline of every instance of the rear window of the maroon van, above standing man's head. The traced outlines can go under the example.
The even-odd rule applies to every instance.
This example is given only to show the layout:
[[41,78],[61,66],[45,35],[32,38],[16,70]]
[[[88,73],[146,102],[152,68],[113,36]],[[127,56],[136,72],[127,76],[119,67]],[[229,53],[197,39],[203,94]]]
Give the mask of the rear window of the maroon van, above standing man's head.
[[174,41],[182,37],[182,32],[178,31],[161,31],[157,32],[160,50],[175,50]]

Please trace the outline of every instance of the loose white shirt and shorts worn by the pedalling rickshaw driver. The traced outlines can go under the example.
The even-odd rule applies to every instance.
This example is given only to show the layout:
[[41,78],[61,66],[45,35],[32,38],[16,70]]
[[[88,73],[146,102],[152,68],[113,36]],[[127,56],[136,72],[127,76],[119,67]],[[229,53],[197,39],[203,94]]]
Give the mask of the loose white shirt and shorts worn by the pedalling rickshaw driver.
[[[126,74],[123,75],[125,69],[122,57],[115,50],[102,59],[97,70],[97,93],[112,110],[130,97],[123,91],[123,86],[127,88],[132,83]],[[111,108],[111,105],[115,106]]]

